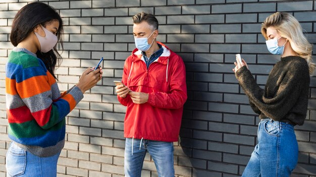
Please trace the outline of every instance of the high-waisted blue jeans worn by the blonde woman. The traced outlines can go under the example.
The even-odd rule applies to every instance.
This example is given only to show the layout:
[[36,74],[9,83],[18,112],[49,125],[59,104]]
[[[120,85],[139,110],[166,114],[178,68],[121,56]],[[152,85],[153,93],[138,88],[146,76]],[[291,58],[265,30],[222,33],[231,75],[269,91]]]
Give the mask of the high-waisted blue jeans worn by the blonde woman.
[[244,177],[290,176],[298,158],[294,126],[288,122],[261,120],[258,144],[242,173]]

